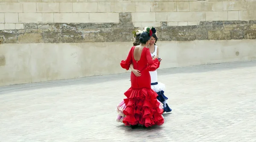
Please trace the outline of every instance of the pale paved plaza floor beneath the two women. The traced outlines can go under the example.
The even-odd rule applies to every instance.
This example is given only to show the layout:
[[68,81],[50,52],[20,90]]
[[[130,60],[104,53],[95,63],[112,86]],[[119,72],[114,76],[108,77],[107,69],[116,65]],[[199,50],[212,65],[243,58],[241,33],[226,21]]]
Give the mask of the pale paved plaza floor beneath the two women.
[[256,62],[158,70],[171,113],[116,122],[130,73],[0,87],[0,142],[256,142]]

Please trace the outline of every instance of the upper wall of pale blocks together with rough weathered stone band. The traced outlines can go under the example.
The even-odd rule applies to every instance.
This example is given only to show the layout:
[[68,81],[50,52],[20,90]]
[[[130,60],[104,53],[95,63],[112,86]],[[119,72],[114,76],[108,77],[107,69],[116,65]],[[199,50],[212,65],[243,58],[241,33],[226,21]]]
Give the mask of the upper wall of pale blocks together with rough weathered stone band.
[[157,27],[160,41],[256,38],[256,0],[1,0],[1,43],[132,41]]

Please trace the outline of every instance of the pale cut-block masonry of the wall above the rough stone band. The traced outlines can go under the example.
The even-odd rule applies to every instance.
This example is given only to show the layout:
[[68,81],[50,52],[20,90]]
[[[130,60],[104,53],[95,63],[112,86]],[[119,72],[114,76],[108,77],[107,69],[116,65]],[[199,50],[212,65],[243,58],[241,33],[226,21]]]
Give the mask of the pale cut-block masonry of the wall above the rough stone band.
[[[170,2],[171,1],[171,2]],[[0,28],[24,23],[119,23],[131,12],[135,27],[198,25],[200,21],[256,20],[255,0],[1,0]]]

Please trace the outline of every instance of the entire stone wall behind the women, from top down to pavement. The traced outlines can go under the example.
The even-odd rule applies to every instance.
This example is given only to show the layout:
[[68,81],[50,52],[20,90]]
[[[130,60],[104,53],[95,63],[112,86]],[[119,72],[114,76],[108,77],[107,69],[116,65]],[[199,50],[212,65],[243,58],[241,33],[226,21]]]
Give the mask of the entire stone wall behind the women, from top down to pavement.
[[125,72],[144,26],[161,68],[256,59],[256,0],[0,0],[0,85]]

